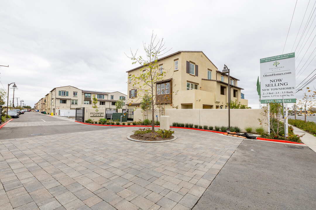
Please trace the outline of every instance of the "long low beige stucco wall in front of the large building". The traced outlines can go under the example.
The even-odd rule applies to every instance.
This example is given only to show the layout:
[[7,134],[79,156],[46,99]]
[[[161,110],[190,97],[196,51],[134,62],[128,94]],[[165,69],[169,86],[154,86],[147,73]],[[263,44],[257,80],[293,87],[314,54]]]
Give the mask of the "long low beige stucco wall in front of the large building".
[[[263,115],[263,109],[231,109],[230,110],[230,126],[238,126],[242,131],[246,131],[246,127],[252,127],[254,130],[258,127],[263,127],[268,131],[268,125],[262,124],[258,121],[266,119]],[[159,111],[155,113],[159,117]],[[165,116],[170,116],[170,125],[173,122],[192,123],[194,125],[208,125],[208,126],[228,126],[228,109],[166,109]],[[151,120],[149,113],[148,119]],[[143,113],[141,109],[134,111],[134,121],[143,120]]]

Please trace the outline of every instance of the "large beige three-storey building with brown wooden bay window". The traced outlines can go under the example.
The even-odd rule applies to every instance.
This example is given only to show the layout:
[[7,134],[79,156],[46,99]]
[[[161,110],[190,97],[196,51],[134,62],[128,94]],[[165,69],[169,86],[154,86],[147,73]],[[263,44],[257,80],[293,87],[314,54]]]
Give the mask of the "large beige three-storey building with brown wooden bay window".
[[[231,100],[248,106],[238,86],[239,79],[218,71],[218,68],[202,51],[178,51],[158,59],[162,74],[161,81],[155,84],[155,103],[165,109],[227,109],[228,82]],[[222,64],[223,66],[224,64]],[[128,75],[128,108],[135,108],[142,101],[131,75],[140,75],[143,66],[126,71]],[[237,72],[230,72],[230,75]],[[134,86],[133,86],[134,84]],[[142,83],[141,83],[142,84]]]

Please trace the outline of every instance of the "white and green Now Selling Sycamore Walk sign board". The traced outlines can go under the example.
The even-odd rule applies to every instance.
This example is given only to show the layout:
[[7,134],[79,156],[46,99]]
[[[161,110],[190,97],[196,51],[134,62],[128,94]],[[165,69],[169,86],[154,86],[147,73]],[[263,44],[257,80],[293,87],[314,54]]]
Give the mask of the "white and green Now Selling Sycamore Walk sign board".
[[261,104],[296,103],[295,53],[260,59]]

